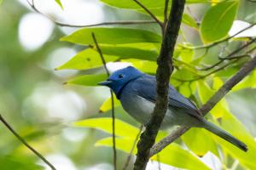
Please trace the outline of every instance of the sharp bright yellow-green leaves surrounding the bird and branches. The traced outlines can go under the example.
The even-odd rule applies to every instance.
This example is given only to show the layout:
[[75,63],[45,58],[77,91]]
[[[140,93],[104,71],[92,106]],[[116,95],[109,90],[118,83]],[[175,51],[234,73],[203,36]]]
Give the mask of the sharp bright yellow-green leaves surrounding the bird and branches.
[[[164,19],[164,1],[142,0],[140,2],[159,18],[159,20]],[[102,3],[106,3],[115,8],[126,8],[137,11],[138,13],[147,14],[143,8],[133,1],[102,0]],[[210,1],[189,0],[187,3],[201,3],[203,7],[207,7],[209,6]],[[183,15],[183,24],[189,26],[190,31],[198,31],[201,35],[201,37],[198,38],[201,38],[201,41],[204,43],[201,47],[197,47],[183,38],[183,41],[177,44],[174,54],[174,65],[176,69],[173,72],[171,82],[185,96],[191,99],[198,99],[196,101],[197,103],[202,104],[207,102],[207,99],[209,99],[214,91],[223,84],[223,81],[237,71],[247,60],[247,58],[241,57],[238,58],[236,62],[232,62],[230,59],[227,61],[228,65],[224,62],[220,62],[218,67],[223,67],[221,70],[218,70],[218,67],[216,68],[214,66],[207,68],[209,65],[214,65],[215,62],[218,61],[218,55],[229,54],[228,51],[224,51],[222,54],[218,54],[218,52],[210,53],[209,50],[211,48],[216,51],[220,51],[220,48],[214,44],[211,46],[208,46],[207,44],[212,44],[214,42],[217,42],[218,44],[221,43],[220,41],[222,41],[222,39],[228,37],[230,28],[234,20],[236,20],[239,5],[239,1],[221,1],[212,5],[212,7],[208,8],[203,15],[200,26],[198,26],[195,17],[192,14],[186,13]],[[57,68],[58,70],[75,69],[86,71],[92,68],[102,67],[102,61],[99,54],[97,54],[95,44],[92,41],[92,32],[96,34],[96,38],[102,49],[102,54],[107,62],[130,62],[142,71],[154,74],[156,68],[156,63],[154,61],[159,53],[161,35],[150,29],[147,29],[146,31],[120,26],[83,28],[74,31],[67,37],[61,38],[61,41],[84,45],[85,49],[84,51],[79,52],[79,54],[76,54],[73,59],[70,59],[67,63],[59,66]],[[242,42],[247,42],[247,40],[231,39],[227,48],[233,47],[237,42],[240,44]],[[245,53],[247,52],[244,49],[239,51],[238,54]],[[96,86],[96,82],[105,77],[105,75],[98,74],[93,76],[84,75],[82,77],[74,78],[67,83]],[[254,88],[255,81],[253,80],[255,80],[255,78],[254,71],[249,77],[234,88],[234,90]],[[119,105],[120,104],[116,100],[115,107]],[[110,109],[111,101],[110,99],[107,99],[101,106],[100,111],[106,112]],[[198,167],[201,167],[201,169],[208,169],[209,167],[198,159],[197,156],[204,156],[208,151],[211,151],[215,156],[218,156],[221,161],[224,161],[226,158],[223,159],[219,154],[219,150],[222,150],[224,156],[232,156],[233,159],[240,161],[241,166],[254,169],[255,164],[252,162],[253,160],[256,160],[256,142],[253,140],[253,136],[250,133],[247,133],[246,128],[239,122],[236,116],[233,116],[230,113],[227,102],[223,99],[213,108],[211,113],[212,117],[208,117],[212,122],[217,123],[248,145],[249,151],[247,153],[243,153],[241,150],[228,144],[223,139],[219,139],[211,133],[208,133],[206,130],[192,128],[182,137],[183,144],[185,144],[189,150],[184,149],[182,144],[171,144],[165,150],[160,152],[160,161],[174,167],[188,169],[197,169]],[[76,122],[75,125],[79,127],[97,128],[104,132],[112,133],[111,120],[109,118],[87,119],[81,122]],[[138,132],[137,127],[132,127],[125,122],[117,120],[115,128],[117,148],[129,153],[133,140]],[[159,136],[163,135],[163,132],[159,134]],[[160,137],[158,137],[158,140],[159,139]],[[112,146],[112,139],[101,139],[96,142],[96,146]],[[191,151],[195,153],[195,155]],[[135,153],[136,150],[133,151],[133,154]],[[155,156],[152,157],[152,159],[155,160]],[[175,161],[173,161],[173,159]],[[177,159],[181,160],[177,161]],[[186,163],[182,160],[186,160]]]

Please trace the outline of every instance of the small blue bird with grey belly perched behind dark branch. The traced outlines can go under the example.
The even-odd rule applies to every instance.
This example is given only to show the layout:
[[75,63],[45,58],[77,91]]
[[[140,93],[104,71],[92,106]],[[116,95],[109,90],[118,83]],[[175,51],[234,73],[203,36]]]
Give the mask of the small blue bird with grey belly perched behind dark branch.
[[[111,88],[124,110],[137,122],[143,125],[149,122],[157,96],[157,83],[154,76],[128,66],[114,71],[106,81],[97,84]],[[221,127],[208,122],[191,100],[178,93],[169,84],[168,108],[160,128],[174,126],[205,128],[239,149],[247,151],[246,144]]]

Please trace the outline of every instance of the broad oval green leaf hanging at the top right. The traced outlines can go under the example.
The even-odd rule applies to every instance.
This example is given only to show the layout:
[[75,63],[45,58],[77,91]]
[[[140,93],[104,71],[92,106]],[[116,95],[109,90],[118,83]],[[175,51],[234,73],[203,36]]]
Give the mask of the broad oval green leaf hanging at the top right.
[[201,22],[201,37],[205,42],[214,42],[226,37],[233,21],[239,1],[224,1],[210,8]]

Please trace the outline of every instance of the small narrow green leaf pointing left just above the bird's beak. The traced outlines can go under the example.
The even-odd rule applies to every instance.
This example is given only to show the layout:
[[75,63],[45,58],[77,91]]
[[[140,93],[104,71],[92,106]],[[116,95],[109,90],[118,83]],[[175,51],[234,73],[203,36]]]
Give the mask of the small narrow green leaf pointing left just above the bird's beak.
[[83,86],[96,86],[98,82],[102,82],[107,79],[106,74],[100,74],[100,75],[84,75],[81,77],[75,77],[69,81],[67,81],[67,84],[78,84]]

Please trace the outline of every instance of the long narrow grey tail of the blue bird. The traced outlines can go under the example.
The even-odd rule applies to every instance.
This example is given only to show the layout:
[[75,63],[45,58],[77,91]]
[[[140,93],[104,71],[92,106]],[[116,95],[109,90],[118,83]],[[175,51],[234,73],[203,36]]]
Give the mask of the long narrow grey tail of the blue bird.
[[239,139],[236,139],[234,136],[232,136],[230,133],[224,131],[224,129],[221,129],[220,127],[216,126],[212,122],[205,121],[204,128],[206,128],[208,131],[218,135],[220,138],[225,139],[226,141],[230,142],[231,144],[236,145],[239,149],[243,151],[247,151],[247,145],[242,143]]

